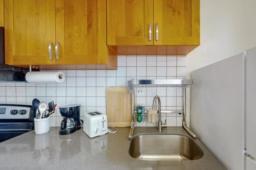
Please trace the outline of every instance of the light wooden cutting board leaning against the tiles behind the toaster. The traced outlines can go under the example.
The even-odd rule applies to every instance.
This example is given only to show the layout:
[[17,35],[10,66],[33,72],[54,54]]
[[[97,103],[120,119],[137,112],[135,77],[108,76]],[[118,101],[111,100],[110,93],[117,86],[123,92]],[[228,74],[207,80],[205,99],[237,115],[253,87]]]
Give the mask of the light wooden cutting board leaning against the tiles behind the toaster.
[[131,126],[132,94],[128,93],[128,87],[116,86],[106,89],[106,116],[108,126]]

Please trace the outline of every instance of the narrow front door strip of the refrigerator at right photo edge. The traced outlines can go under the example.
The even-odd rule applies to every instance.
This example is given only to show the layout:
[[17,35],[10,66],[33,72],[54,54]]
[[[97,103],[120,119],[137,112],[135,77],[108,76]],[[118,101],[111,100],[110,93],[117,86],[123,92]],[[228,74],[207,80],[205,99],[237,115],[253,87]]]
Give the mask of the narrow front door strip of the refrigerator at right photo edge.
[[256,47],[246,54],[246,170],[256,170]]

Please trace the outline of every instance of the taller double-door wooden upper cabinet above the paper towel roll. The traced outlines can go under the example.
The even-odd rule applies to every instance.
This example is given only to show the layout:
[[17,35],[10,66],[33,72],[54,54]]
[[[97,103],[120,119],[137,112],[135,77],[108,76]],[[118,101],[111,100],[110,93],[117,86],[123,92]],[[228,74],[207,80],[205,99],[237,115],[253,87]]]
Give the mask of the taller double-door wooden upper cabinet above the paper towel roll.
[[106,0],[0,0],[3,5],[6,64],[117,67],[106,45]]

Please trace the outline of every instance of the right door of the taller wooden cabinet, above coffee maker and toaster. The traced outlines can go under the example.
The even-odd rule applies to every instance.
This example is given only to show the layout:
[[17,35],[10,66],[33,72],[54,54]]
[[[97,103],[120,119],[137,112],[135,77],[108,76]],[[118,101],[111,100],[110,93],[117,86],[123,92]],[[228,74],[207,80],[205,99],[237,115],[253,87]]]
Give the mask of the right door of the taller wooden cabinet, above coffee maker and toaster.
[[106,55],[105,8],[103,0],[56,0],[57,64],[97,64]]

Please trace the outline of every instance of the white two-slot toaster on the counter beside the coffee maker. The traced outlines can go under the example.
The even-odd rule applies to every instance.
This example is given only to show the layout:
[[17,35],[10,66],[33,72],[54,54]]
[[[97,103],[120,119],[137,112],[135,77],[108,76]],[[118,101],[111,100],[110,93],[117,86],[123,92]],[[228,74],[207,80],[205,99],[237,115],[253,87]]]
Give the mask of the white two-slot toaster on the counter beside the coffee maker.
[[100,112],[90,112],[84,114],[83,132],[85,132],[91,138],[108,133],[106,115]]

